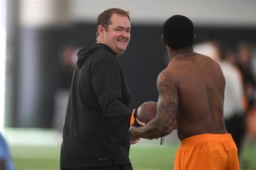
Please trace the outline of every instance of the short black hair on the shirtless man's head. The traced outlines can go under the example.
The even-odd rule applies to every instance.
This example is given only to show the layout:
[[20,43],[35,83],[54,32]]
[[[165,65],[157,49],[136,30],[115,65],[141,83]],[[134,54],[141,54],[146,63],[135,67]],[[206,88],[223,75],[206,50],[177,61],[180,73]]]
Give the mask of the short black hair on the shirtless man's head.
[[174,49],[192,47],[194,42],[194,25],[190,19],[174,15],[163,25],[163,38],[167,45]]

